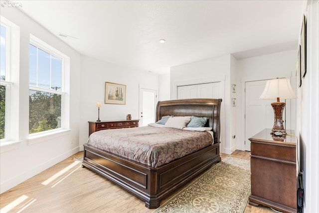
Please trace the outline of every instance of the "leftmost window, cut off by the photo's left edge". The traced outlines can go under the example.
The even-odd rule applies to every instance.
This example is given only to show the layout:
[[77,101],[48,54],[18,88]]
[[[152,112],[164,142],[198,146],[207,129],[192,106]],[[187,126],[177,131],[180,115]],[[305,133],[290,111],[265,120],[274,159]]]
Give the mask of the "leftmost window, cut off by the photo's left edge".
[[[19,139],[18,81],[20,28],[8,19],[0,16],[0,142]],[[16,84],[17,85],[17,84]]]

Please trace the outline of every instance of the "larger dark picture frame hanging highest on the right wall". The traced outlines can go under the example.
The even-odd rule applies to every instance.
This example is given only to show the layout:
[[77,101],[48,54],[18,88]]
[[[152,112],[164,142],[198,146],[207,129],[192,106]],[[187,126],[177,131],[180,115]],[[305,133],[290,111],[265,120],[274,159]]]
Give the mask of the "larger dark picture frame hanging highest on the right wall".
[[300,62],[301,62],[301,77],[305,78],[307,73],[307,22],[306,16],[304,15],[301,34],[300,34]]

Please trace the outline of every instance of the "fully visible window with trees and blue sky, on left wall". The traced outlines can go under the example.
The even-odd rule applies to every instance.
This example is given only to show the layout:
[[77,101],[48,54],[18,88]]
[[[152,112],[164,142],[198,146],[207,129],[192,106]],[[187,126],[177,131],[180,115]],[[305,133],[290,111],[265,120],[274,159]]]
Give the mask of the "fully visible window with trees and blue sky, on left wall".
[[29,134],[62,127],[64,98],[63,55],[32,38],[29,46]]

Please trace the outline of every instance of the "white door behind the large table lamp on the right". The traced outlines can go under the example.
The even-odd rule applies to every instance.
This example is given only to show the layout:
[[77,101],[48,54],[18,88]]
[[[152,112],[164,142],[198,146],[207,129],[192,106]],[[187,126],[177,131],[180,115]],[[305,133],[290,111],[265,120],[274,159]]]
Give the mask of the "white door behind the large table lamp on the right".
[[[247,151],[250,151],[250,141],[248,140],[250,137],[265,128],[272,129],[274,126],[275,115],[271,103],[277,100],[259,99],[265,85],[266,80],[245,82],[245,150]],[[284,102],[285,100],[280,101]],[[286,102],[283,112],[283,120],[286,121],[284,122],[285,128],[286,123],[290,124],[291,122],[290,111],[287,112],[286,109],[290,109],[290,101]]]

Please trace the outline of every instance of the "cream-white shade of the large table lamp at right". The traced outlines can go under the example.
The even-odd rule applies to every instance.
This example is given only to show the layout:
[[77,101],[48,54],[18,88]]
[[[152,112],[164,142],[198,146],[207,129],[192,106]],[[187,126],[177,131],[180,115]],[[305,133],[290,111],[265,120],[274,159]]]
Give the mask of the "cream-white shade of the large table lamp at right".
[[268,80],[266,82],[265,89],[260,99],[293,99],[297,98],[295,95],[291,84],[290,79],[287,78],[276,78],[272,80]]

